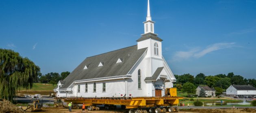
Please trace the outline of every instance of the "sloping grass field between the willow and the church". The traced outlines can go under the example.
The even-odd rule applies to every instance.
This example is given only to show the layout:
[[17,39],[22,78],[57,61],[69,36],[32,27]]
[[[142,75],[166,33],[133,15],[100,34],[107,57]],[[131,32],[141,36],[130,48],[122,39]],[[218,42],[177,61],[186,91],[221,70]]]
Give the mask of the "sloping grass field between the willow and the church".
[[[52,84],[41,84],[41,83],[33,83],[33,88],[29,90],[53,90],[56,85],[52,86]],[[26,90],[25,88],[21,88],[20,90]]]

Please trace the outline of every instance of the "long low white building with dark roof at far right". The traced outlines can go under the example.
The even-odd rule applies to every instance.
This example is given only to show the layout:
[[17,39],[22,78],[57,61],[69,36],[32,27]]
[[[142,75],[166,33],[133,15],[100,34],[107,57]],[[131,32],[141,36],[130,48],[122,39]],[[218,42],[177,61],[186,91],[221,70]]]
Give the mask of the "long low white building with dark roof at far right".
[[250,85],[230,85],[226,90],[227,96],[256,96],[256,88]]

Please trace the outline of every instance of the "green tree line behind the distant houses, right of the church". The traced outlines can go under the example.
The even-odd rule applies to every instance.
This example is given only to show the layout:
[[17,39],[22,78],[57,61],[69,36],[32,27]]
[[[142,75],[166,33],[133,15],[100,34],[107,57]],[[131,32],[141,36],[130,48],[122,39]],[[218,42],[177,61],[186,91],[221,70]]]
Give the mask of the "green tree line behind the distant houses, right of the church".
[[204,75],[203,73],[197,74],[195,77],[189,73],[183,75],[174,75],[176,77],[176,84],[174,86],[178,90],[187,92],[188,95],[195,94],[195,88],[199,85],[207,85],[215,88],[216,94],[226,90],[230,85],[252,85],[256,87],[255,79],[246,79],[241,75],[234,75],[233,72],[218,75]]

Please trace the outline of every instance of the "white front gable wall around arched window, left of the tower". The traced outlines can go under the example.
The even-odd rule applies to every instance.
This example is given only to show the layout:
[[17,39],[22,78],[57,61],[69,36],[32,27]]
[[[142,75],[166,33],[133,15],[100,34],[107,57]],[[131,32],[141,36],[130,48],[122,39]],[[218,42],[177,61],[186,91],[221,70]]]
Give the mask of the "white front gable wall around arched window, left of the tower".
[[[145,63],[145,54],[143,54],[142,58],[139,59],[137,64],[132,68],[130,74],[132,75],[132,79],[128,79],[128,96],[133,97],[143,97],[147,96],[147,87],[145,83],[146,77],[146,63]],[[138,70],[141,69],[141,89],[138,89]]]

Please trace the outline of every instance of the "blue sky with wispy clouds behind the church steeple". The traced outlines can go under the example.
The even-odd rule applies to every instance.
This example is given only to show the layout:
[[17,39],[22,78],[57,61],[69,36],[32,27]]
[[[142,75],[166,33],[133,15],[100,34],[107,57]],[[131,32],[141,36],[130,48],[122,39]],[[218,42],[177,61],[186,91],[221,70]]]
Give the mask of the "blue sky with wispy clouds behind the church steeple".
[[[0,0],[0,48],[72,71],[86,57],[136,45],[147,0]],[[150,0],[174,74],[256,73],[255,0]]]

